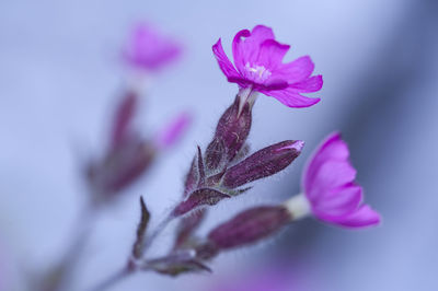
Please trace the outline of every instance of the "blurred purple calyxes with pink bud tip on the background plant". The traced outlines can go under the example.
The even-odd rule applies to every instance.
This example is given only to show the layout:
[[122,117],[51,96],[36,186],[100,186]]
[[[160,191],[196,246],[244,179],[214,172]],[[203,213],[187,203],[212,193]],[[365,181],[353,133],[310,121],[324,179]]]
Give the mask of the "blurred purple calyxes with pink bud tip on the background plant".
[[158,154],[182,137],[191,121],[188,114],[182,114],[158,138],[148,139],[132,126],[137,106],[138,95],[128,91],[116,108],[110,147],[102,159],[88,164],[87,182],[96,202],[110,200],[141,177]]

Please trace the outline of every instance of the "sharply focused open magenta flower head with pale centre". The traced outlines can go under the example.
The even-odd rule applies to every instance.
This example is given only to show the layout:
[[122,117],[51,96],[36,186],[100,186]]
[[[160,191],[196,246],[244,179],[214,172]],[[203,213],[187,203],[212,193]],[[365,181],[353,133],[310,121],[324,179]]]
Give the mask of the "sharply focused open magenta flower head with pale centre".
[[283,63],[288,50],[289,46],[275,40],[272,28],[263,25],[255,26],[252,32],[240,31],[234,36],[234,65],[223,51],[220,38],[212,46],[219,67],[229,82],[273,96],[289,107],[312,106],[320,98],[309,98],[301,93],[321,90],[322,75],[311,75],[314,65],[309,56]]

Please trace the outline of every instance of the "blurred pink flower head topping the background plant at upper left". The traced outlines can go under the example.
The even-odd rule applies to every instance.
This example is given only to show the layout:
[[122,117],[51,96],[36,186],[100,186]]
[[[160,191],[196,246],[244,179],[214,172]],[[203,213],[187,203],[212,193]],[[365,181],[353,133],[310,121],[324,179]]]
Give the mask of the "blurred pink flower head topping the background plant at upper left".
[[140,70],[155,71],[180,57],[182,47],[153,26],[138,24],[124,48],[126,62]]

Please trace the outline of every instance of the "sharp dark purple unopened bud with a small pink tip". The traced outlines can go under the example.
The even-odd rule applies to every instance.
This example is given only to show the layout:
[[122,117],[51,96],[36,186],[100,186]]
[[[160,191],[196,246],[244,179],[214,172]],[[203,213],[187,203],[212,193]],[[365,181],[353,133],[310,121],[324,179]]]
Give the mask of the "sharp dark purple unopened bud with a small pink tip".
[[222,185],[235,188],[274,175],[287,167],[301,153],[304,142],[286,140],[262,149],[227,170]]

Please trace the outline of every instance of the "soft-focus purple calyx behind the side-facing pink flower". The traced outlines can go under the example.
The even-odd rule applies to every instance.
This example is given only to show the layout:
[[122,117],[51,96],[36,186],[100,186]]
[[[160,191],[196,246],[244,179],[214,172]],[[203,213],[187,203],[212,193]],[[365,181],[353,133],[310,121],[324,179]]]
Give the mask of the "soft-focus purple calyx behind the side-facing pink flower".
[[251,244],[264,238],[288,223],[291,217],[281,206],[262,206],[241,212],[208,234],[219,249]]

